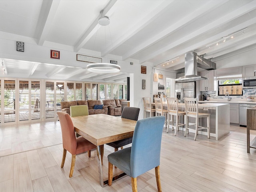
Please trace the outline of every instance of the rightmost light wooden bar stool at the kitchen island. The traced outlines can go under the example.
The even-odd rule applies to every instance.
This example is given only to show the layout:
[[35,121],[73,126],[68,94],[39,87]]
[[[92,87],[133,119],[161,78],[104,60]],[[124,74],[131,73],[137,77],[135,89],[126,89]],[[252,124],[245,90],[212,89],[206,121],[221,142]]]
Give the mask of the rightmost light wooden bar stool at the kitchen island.
[[[186,130],[184,136],[186,137],[186,133],[188,131],[188,117],[193,117],[196,118],[196,123],[192,124],[191,126],[196,126],[196,133],[195,133],[195,138],[196,140],[196,135],[198,134],[198,130],[202,129],[207,129],[207,134],[208,134],[208,139],[210,138],[210,114],[209,113],[199,113],[198,112],[198,100],[197,98],[184,98],[185,101],[185,108],[186,108]],[[199,118],[204,118],[207,117],[207,127],[202,127],[199,126]],[[198,128],[199,127],[199,128]]]

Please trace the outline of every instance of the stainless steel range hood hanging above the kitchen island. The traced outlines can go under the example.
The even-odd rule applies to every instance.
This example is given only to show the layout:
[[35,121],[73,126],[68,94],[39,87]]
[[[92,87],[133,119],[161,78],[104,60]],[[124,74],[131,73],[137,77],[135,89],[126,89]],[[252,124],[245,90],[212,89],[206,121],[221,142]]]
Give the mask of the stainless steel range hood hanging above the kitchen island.
[[216,69],[216,63],[198,56],[195,52],[185,54],[185,76],[175,79],[177,82],[192,82],[197,80],[206,80],[208,78],[197,75],[197,68],[206,70]]

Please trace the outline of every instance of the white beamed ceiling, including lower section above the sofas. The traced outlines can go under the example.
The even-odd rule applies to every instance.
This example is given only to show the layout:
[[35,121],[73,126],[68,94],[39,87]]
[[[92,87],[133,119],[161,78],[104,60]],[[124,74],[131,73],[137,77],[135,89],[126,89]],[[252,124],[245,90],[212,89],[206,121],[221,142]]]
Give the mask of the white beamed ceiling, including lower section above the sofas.
[[[98,25],[103,9],[110,18],[106,28]],[[192,50],[216,62],[256,48],[256,0],[0,0],[0,18],[0,38],[22,36],[40,46],[92,50],[170,71],[184,68],[184,54]],[[4,63],[10,77],[122,82],[126,76]]]

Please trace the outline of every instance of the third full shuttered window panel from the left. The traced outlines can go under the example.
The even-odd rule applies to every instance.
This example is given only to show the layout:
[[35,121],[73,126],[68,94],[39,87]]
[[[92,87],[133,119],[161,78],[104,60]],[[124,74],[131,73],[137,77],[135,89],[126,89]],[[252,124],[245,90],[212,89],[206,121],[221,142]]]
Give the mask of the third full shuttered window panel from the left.
[[40,82],[31,81],[31,119],[40,119]]

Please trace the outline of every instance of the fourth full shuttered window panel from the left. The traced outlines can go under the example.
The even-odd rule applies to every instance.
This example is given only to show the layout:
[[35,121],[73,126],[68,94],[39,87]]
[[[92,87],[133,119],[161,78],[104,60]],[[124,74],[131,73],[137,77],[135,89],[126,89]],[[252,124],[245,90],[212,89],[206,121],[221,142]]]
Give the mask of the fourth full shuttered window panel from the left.
[[54,82],[45,83],[45,118],[54,117]]

